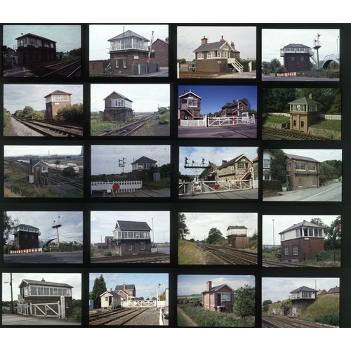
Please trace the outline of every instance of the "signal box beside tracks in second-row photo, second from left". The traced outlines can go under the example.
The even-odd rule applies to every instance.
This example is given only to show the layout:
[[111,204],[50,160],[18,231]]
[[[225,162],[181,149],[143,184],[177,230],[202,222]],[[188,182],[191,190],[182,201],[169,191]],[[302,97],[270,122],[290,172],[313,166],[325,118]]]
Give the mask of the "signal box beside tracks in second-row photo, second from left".
[[130,121],[133,118],[133,101],[113,91],[105,99],[104,119],[109,121]]

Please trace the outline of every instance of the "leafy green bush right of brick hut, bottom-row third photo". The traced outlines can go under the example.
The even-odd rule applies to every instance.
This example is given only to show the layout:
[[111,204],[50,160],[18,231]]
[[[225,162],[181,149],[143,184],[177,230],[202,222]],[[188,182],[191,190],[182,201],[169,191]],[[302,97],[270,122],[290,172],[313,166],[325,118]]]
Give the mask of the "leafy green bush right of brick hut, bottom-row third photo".
[[243,318],[255,315],[255,288],[245,284],[234,291],[234,314]]

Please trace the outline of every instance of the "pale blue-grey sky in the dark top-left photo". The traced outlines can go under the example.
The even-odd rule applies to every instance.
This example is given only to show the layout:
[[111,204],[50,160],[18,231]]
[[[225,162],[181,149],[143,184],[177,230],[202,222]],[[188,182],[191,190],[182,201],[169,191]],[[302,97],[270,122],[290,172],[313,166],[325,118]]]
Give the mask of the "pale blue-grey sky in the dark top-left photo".
[[[27,11],[25,11],[27,12]],[[56,41],[56,51],[67,52],[81,48],[80,25],[4,25],[4,43],[9,48],[17,47],[15,38],[31,33]]]

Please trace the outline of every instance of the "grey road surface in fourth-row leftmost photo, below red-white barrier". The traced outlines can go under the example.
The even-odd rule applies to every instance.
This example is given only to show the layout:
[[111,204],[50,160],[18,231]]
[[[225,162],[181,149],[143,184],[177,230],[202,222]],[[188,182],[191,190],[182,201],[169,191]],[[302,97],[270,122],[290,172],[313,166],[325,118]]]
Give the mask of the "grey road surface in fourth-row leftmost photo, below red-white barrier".
[[4,263],[83,263],[83,251],[32,252],[4,255]]

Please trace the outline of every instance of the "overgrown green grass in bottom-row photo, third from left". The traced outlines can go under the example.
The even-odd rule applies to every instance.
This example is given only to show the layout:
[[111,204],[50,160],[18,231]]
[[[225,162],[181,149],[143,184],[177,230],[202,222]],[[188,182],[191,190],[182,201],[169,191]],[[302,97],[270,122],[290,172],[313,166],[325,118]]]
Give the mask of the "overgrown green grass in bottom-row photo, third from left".
[[[246,317],[246,320],[235,317],[234,313],[221,313],[217,311],[204,310],[201,307],[190,305],[178,305],[198,326],[207,327],[242,327],[250,328],[255,326],[255,317]],[[179,315],[179,314],[178,314]]]

